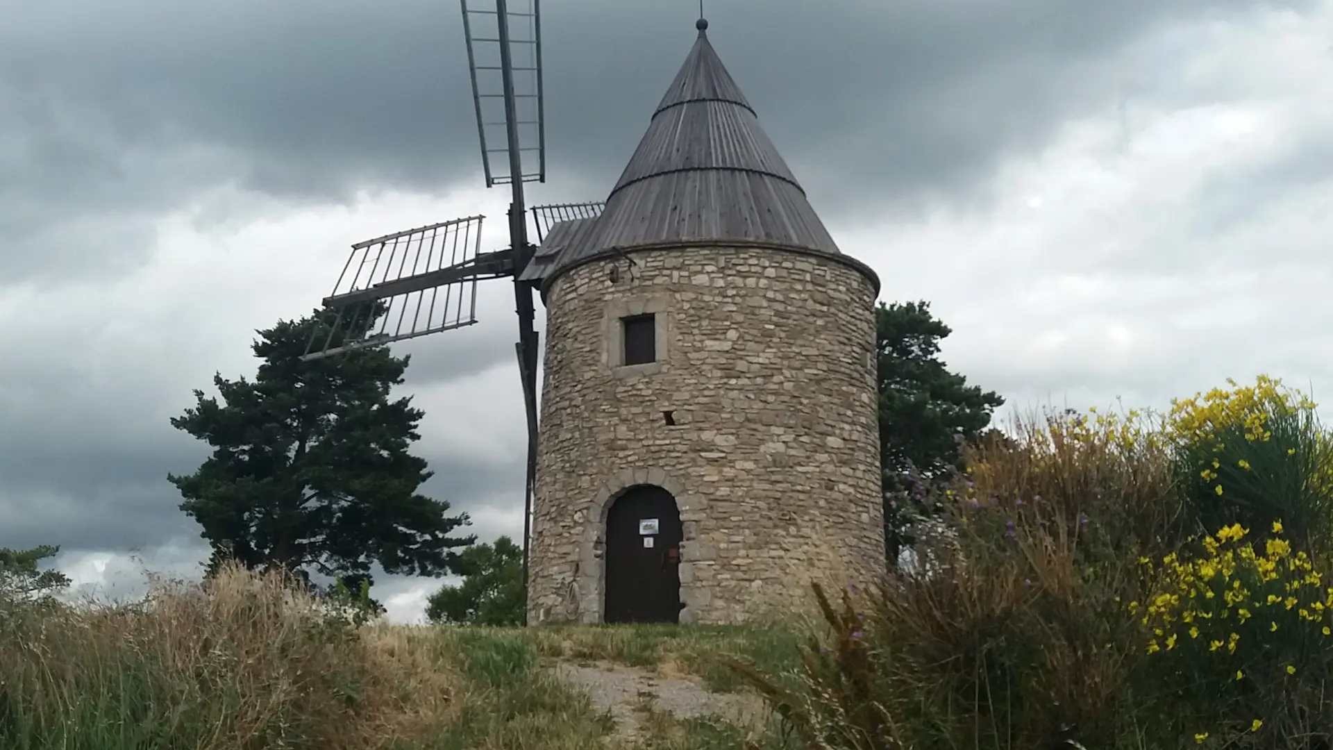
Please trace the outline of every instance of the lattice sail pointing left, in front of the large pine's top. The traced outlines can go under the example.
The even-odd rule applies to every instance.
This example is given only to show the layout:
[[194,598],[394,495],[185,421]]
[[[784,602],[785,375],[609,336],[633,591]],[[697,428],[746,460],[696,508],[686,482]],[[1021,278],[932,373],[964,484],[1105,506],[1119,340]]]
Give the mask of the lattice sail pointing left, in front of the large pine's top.
[[477,280],[513,274],[511,251],[480,252],[483,219],[353,244],[333,294],[324,298],[328,328],[316,331],[305,359],[476,323]]

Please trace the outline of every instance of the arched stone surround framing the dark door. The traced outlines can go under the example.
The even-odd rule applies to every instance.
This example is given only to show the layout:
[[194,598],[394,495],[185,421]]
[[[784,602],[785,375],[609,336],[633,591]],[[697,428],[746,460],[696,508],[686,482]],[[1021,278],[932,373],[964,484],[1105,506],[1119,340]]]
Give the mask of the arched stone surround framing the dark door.
[[716,558],[712,546],[698,540],[698,520],[704,516],[704,498],[688,492],[680,480],[663,468],[624,468],[603,483],[597,495],[593,496],[592,507],[584,516],[585,527],[579,548],[579,567],[576,569],[579,577],[576,611],[577,619],[583,625],[601,625],[607,605],[607,512],[612,503],[627,491],[643,486],[661,487],[670,492],[670,496],[676,499],[676,510],[680,512],[680,601],[685,605],[680,610],[681,625],[696,622],[701,610],[706,609],[712,601],[712,591],[694,578],[696,563]]

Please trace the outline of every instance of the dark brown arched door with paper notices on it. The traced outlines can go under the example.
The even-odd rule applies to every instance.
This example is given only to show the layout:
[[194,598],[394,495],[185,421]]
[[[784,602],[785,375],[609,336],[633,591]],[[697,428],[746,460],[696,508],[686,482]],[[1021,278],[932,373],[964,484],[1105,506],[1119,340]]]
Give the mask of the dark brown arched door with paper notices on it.
[[680,622],[680,510],[661,487],[631,487],[607,511],[607,622]]

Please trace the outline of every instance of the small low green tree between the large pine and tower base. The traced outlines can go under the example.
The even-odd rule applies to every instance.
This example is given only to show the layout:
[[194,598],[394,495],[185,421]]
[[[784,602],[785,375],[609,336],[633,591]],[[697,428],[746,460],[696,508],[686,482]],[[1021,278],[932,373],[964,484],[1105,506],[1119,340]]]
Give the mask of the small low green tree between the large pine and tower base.
[[425,614],[432,622],[459,625],[523,625],[523,550],[508,536],[463,552],[463,583],[431,595]]

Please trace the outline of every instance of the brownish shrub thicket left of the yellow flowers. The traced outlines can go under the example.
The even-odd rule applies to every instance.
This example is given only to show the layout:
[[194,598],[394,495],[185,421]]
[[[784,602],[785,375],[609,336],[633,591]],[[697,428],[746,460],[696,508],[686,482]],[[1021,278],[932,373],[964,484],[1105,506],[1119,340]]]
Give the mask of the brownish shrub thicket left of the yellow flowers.
[[1117,597],[1178,526],[1166,446],[1137,415],[1060,412],[966,458],[932,498],[924,565],[825,601],[804,691],[749,674],[812,746],[1093,749],[1133,731],[1137,630]]

